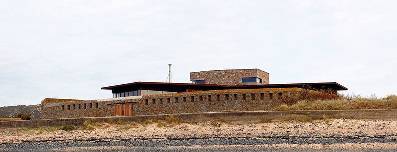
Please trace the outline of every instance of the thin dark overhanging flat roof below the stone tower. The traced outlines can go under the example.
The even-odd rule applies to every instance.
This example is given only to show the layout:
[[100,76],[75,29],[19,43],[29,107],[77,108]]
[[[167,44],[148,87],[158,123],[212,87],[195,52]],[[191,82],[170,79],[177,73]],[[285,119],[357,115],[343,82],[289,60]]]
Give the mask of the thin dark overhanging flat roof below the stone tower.
[[316,82],[316,83],[289,83],[289,84],[261,84],[261,85],[217,85],[217,84],[192,84],[192,83],[168,83],[168,82],[133,82],[101,89],[114,90],[129,87],[159,87],[159,88],[178,88],[178,89],[197,89],[197,90],[216,90],[216,89],[251,89],[251,88],[303,88],[311,86],[313,89],[348,90],[337,82]]

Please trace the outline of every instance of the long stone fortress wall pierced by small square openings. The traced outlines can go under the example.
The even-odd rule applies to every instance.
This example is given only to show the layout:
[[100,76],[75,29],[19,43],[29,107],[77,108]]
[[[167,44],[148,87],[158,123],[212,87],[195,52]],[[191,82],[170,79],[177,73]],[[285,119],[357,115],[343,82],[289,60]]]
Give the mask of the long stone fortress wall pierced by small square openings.
[[297,97],[300,91],[303,89],[229,89],[145,95],[138,99],[44,103],[42,119],[113,116],[114,105],[122,104],[132,104],[133,115],[271,110],[283,104],[280,98]]

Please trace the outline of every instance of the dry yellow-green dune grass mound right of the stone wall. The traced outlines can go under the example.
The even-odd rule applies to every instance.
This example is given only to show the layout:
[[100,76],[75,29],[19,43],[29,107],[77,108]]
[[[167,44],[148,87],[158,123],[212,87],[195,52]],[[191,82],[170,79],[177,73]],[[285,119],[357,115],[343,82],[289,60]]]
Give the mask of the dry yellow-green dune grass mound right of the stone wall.
[[334,100],[302,100],[288,106],[281,105],[273,110],[350,110],[350,109],[395,109],[397,108],[397,96],[389,95],[386,98],[353,98],[353,99],[334,99]]

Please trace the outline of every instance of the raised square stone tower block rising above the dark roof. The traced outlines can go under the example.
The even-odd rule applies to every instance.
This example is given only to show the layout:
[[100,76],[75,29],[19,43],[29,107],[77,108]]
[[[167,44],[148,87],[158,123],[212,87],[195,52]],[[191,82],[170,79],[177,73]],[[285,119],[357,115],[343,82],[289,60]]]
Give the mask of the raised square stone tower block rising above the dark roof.
[[[242,78],[257,77],[262,79],[262,83],[242,83]],[[269,84],[269,73],[259,69],[240,69],[240,70],[214,70],[191,72],[190,81],[205,80],[205,84],[219,85],[257,85]]]

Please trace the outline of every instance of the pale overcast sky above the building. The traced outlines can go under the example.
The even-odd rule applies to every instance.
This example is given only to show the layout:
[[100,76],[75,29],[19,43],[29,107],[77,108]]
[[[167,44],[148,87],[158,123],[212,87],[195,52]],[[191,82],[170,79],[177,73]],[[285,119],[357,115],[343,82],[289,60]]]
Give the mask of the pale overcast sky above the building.
[[258,68],[270,83],[397,94],[396,0],[0,0],[0,106]]

